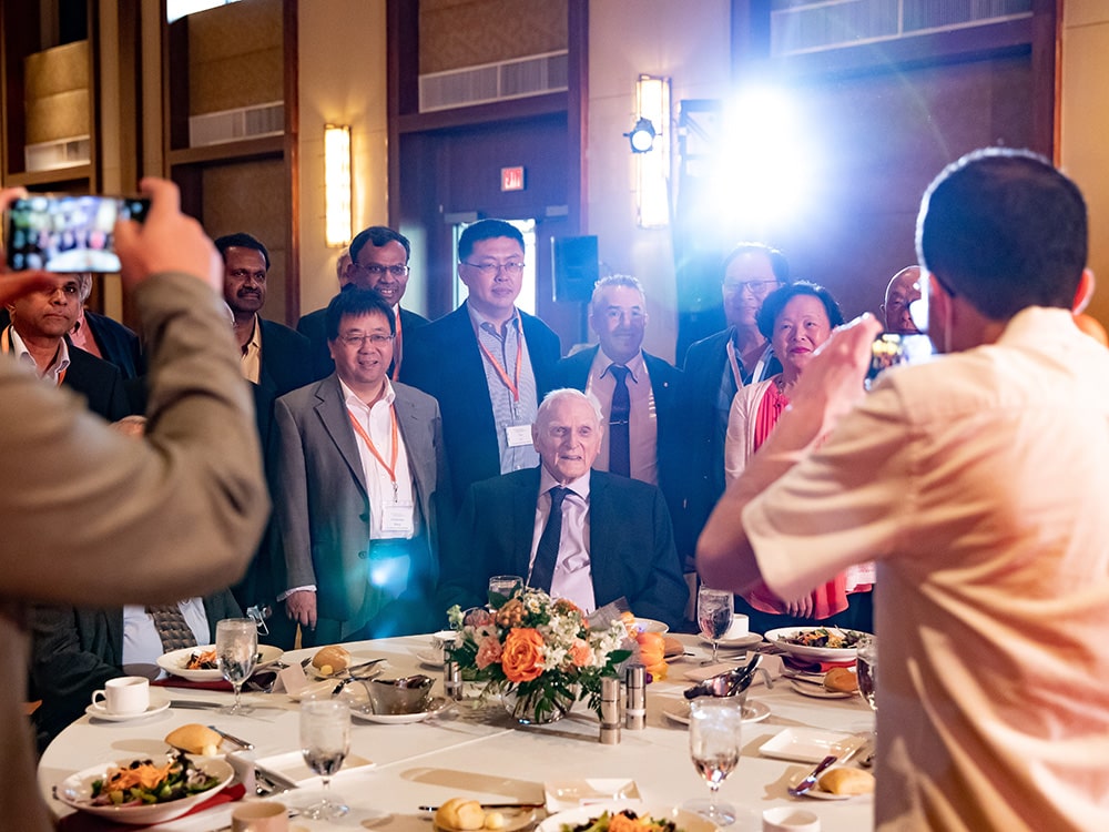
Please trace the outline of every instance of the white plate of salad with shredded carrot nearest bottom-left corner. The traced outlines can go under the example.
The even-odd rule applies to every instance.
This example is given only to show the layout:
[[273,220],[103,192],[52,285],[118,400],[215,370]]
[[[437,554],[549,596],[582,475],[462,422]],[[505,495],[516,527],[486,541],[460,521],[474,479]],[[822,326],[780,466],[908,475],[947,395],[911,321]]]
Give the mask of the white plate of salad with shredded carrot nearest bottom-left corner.
[[54,788],[62,803],[114,823],[149,824],[180,818],[216,794],[234,775],[218,758],[173,753],[93,765]]

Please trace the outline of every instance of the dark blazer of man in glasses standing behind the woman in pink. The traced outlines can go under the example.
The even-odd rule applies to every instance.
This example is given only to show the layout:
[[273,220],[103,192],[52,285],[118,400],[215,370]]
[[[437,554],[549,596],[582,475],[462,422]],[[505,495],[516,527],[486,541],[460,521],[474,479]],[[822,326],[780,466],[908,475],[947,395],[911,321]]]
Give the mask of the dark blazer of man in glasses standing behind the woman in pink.
[[[690,344],[683,367],[685,392],[683,414],[690,437],[688,484],[685,497],[686,522],[693,545],[701,535],[716,500],[724,493],[724,434],[721,427],[720,384],[728,366],[728,341],[732,329],[723,329],[708,338]],[[782,372],[777,358],[766,363],[762,381]]]

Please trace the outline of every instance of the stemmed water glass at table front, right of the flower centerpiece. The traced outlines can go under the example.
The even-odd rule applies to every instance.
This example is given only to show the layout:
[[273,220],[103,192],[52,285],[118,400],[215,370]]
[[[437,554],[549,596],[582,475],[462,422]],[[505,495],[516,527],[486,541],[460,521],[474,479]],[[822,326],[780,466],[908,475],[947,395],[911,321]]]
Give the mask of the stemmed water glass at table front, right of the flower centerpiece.
[[743,709],[735,699],[704,697],[690,702],[690,759],[709,784],[709,800],[689,801],[684,809],[718,826],[735,822],[735,808],[716,802],[716,792],[740,762]]

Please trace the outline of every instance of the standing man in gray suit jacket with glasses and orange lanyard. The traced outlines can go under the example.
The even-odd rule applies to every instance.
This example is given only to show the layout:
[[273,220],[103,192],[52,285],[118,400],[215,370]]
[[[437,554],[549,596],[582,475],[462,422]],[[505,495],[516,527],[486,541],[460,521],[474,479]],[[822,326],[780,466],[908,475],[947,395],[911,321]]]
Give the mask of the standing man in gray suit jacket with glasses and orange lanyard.
[[439,406],[393,384],[396,318],[372,290],[327,307],[335,373],[277,399],[275,572],[305,646],[427,631],[449,506]]

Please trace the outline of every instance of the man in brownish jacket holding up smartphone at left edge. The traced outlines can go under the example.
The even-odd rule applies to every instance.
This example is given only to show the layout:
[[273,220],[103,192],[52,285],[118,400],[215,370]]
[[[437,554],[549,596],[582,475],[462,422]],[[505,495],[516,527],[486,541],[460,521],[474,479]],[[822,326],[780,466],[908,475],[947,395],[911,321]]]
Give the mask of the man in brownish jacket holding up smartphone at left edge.
[[[124,287],[149,337],[150,427],[112,430],[10,358],[0,359],[0,779],[4,822],[52,829],[39,798],[23,716],[28,638],[22,603],[166,603],[234,582],[257,544],[268,500],[250,394],[222,311],[223,270],[177,189],[146,179],[144,225],[121,222]],[[21,195],[0,191],[0,207]],[[47,288],[43,273],[0,276],[0,303]]]

